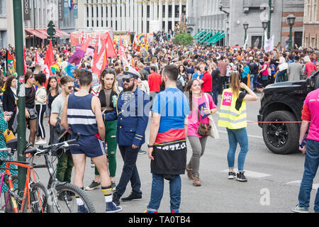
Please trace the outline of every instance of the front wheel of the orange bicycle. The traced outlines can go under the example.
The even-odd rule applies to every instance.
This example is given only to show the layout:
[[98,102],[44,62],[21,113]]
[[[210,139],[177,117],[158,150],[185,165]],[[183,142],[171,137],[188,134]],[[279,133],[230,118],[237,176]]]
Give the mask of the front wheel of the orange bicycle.
[[30,185],[30,209],[28,207],[28,194],[23,206],[23,213],[53,213],[52,202],[45,186],[40,182]]

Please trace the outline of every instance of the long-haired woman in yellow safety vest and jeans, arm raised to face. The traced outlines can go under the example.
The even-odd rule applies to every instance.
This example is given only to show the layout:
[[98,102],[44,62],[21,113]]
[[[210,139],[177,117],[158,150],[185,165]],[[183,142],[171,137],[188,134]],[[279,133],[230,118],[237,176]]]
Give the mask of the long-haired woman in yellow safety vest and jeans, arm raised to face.
[[[248,94],[241,92],[240,89],[245,89]],[[218,119],[218,126],[225,127],[228,132],[228,179],[247,182],[247,178],[244,175],[244,163],[248,151],[246,101],[256,101],[257,99],[257,95],[246,84],[240,82],[240,75],[237,72],[231,74],[230,88],[223,90]],[[234,162],[237,143],[240,144],[240,153],[238,155],[238,173],[236,175]]]

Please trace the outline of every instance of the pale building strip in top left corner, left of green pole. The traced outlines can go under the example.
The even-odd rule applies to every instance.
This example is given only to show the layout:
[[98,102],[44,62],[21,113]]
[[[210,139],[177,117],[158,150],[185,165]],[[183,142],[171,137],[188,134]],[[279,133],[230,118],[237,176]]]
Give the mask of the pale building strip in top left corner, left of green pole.
[[13,2],[0,0],[0,48],[14,46]]

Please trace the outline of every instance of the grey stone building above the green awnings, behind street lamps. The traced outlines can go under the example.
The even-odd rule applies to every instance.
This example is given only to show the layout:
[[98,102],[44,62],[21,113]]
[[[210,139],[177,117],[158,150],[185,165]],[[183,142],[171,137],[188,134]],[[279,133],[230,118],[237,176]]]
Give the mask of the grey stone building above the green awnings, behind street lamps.
[[[189,6],[194,5],[192,9],[189,7],[187,18],[187,26],[192,35],[202,29],[219,31],[225,33],[223,45],[244,45],[243,24],[248,23],[247,45],[262,47],[264,38],[262,21],[269,19],[269,0],[189,0],[188,2]],[[293,43],[296,36],[298,46],[302,44],[303,2],[304,0],[272,0],[270,35],[274,35],[274,45],[286,45],[287,35],[289,35],[286,17],[291,13],[296,16],[296,23],[293,26]]]

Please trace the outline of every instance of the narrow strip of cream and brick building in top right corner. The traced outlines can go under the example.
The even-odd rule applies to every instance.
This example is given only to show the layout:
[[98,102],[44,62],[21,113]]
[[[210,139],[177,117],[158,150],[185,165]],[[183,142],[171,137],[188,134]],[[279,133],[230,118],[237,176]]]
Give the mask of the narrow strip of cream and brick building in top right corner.
[[319,48],[318,0],[306,0],[304,11],[303,47]]

